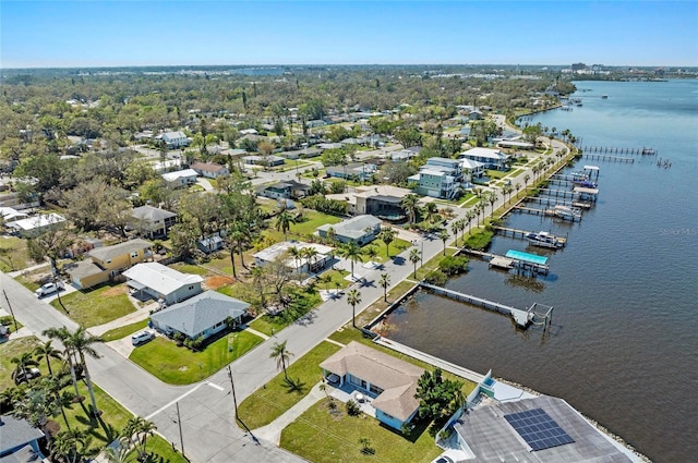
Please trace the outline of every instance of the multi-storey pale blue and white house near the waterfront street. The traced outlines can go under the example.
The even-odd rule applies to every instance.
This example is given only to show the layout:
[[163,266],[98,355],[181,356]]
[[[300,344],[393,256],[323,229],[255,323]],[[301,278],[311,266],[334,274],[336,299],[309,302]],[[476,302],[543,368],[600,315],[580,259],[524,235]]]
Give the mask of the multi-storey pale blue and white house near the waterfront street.
[[429,158],[419,173],[408,180],[417,183],[418,194],[437,198],[454,198],[460,191],[462,162],[457,159]]

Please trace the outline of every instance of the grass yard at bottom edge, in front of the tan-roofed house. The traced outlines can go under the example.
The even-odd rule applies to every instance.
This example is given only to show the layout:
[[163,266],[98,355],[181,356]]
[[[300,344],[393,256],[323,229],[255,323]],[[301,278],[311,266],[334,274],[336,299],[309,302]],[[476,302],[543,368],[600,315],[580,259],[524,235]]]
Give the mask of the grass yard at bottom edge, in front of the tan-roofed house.
[[[404,436],[363,413],[349,416],[344,404],[330,410],[328,403],[321,400],[287,426],[280,447],[315,463],[429,463],[442,452],[423,425]],[[361,438],[369,439],[369,453],[362,452]]]

